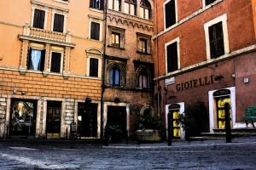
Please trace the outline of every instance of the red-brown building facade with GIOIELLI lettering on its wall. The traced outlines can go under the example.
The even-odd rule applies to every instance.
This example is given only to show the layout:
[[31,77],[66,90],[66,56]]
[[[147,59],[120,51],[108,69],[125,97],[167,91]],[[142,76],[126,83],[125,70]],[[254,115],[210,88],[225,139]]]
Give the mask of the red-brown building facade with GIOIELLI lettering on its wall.
[[154,9],[157,111],[183,114],[198,135],[225,127],[228,103],[231,127],[246,127],[241,118],[256,104],[255,1],[159,0]]

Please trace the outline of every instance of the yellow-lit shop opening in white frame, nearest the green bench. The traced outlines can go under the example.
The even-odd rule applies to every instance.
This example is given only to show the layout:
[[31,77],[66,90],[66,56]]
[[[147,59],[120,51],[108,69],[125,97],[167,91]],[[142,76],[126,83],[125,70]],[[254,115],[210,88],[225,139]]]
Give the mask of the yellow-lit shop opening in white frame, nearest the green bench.
[[217,120],[218,128],[225,128],[225,111],[224,105],[228,103],[230,105],[230,127],[232,127],[232,110],[231,110],[231,99],[230,99],[230,90],[229,89],[221,89],[213,93],[214,101],[215,101],[215,114]]

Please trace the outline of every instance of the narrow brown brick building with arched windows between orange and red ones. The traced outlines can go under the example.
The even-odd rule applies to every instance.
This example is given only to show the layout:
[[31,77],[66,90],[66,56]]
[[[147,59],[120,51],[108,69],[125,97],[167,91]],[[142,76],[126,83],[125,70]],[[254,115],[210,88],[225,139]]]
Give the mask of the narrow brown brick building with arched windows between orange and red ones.
[[153,2],[108,0],[104,55],[104,127],[130,136],[144,112],[153,113]]

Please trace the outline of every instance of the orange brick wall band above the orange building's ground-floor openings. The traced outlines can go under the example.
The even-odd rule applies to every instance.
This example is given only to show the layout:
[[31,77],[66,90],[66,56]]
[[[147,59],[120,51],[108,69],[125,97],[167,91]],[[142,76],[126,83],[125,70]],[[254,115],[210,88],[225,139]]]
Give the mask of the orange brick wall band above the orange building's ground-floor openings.
[[26,96],[44,96],[50,98],[101,99],[101,80],[26,73],[19,71],[0,70],[0,94],[18,94],[25,92]]

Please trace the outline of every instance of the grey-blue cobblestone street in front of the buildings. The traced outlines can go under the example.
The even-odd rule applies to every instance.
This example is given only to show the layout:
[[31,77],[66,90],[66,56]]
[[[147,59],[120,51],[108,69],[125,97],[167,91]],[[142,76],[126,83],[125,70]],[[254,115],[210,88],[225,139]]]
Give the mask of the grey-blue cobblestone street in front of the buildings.
[[76,147],[0,143],[1,169],[255,169],[255,137]]

